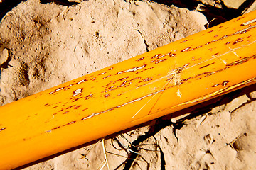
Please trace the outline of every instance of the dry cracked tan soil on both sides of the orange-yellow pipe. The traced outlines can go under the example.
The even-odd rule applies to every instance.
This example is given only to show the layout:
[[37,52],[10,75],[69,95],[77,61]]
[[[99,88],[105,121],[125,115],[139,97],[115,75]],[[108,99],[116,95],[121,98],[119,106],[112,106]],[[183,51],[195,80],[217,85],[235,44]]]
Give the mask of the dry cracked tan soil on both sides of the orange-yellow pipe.
[[[197,33],[206,23],[199,12],[149,1],[24,1],[0,23],[0,103]],[[26,169],[255,169],[255,100],[256,86],[249,86],[182,118],[159,118]]]

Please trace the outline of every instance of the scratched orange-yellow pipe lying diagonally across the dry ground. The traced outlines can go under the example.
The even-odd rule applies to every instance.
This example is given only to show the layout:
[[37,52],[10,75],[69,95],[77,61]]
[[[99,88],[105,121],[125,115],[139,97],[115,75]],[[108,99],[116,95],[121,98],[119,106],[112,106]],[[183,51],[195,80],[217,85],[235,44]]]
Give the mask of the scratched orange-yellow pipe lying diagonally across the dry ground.
[[0,107],[13,169],[255,83],[256,12]]

